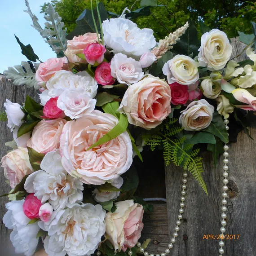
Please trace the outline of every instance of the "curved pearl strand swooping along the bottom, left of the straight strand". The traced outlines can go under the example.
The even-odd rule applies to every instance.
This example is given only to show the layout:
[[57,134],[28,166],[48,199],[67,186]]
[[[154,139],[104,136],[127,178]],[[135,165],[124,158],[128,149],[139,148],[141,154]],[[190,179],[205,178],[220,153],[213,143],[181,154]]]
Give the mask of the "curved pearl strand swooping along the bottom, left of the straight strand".
[[[166,256],[170,253],[170,249],[173,248],[173,244],[176,242],[177,236],[178,236],[178,231],[180,230],[180,225],[181,225],[181,219],[183,218],[182,213],[184,212],[184,207],[185,207],[185,194],[186,194],[186,188],[187,188],[187,179],[186,177],[188,176],[187,174],[187,168],[184,168],[184,173],[183,173],[183,178],[182,178],[182,190],[181,190],[181,203],[180,203],[180,209],[179,209],[179,215],[178,215],[178,220],[176,221],[176,227],[175,227],[175,232],[172,234],[173,237],[171,239],[171,243],[168,244],[168,248],[165,249],[165,252],[162,252],[161,254],[154,254],[154,253],[148,253],[144,252],[144,248],[141,247],[141,243],[137,243],[137,247],[139,247],[139,250],[141,253],[144,254],[144,256]],[[132,255],[132,251],[128,252],[128,255]]]

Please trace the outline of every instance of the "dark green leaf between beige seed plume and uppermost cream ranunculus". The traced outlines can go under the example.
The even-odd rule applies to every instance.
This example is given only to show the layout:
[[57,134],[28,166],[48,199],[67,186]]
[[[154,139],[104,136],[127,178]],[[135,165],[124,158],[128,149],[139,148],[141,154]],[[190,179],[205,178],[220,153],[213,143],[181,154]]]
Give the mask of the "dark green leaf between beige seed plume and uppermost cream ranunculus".
[[173,50],[178,54],[184,54],[190,56],[193,53],[193,57],[198,55],[198,49],[200,47],[200,41],[198,40],[198,32],[196,26],[191,19],[189,19],[189,27],[181,39],[173,45]]

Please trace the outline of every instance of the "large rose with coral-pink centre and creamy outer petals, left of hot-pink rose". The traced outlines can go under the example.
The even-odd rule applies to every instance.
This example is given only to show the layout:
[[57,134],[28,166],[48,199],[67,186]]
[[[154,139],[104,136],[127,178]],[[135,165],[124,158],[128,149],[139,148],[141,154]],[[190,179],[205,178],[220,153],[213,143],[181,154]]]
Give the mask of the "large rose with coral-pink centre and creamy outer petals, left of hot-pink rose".
[[153,75],[131,84],[119,107],[130,124],[148,130],[161,124],[171,110],[170,86]]

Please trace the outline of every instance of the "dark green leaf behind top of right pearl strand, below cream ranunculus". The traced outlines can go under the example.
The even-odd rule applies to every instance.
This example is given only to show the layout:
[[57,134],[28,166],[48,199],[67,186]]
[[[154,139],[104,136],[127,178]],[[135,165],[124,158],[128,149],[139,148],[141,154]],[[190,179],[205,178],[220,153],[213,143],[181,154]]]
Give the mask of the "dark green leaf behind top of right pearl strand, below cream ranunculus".
[[225,143],[229,142],[229,135],[225,128],[224,121],[221,115],[219,115],[216,111],[213,113],[212,123],[207,128],[203,129],[203,131],[212,133]]

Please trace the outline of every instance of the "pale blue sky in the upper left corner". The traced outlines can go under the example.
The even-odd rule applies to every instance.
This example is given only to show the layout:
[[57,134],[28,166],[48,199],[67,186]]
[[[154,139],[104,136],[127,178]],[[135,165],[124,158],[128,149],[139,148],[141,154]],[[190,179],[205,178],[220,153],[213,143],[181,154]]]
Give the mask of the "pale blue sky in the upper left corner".
[[[31,26],[30,16],[23,12],[26,9],[25,0],[0,0],[0,2],[0,73],[3,73],[8,66],[27,61],[27,58],[21,53],[14,34],[23,44],[31,44],[35,54],[42,62],[50,57],[56,57],[49,44],[45,43],[39,32]],[[43,5],[44,2],[49,1],[29,0],[30,8],[39,18],[42,27],[44,27],[45,20],[44,14],[40,13],[40,5]]]

